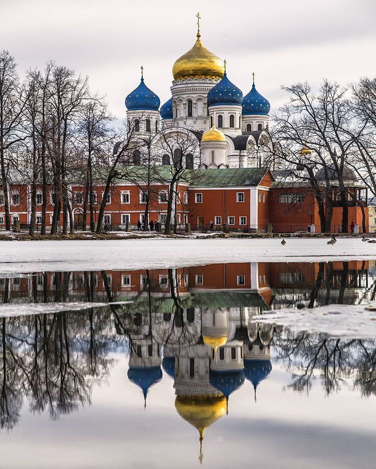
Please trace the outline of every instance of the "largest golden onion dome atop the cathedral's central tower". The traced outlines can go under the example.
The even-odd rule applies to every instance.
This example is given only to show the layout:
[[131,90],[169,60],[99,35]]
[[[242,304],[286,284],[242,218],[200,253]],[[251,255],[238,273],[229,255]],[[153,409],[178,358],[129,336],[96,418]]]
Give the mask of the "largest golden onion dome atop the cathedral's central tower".
[[179,57],[172,66],[174,80],[186,78],[218,78],[225,73],[224,62],[208,51],[201,42],[200,33],[194,47]]

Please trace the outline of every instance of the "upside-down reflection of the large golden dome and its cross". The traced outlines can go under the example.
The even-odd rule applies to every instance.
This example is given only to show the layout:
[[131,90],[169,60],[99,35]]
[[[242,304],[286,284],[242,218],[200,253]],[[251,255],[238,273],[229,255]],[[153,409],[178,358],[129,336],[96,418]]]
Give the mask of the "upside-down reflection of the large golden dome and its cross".
[[200,433],[200,462],[203,461],[203,440],[205,430],[226,413],[226,397],[216,396],[177,396],[177,413],[193,425]]

